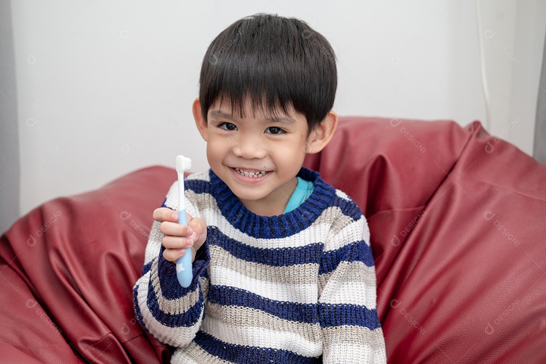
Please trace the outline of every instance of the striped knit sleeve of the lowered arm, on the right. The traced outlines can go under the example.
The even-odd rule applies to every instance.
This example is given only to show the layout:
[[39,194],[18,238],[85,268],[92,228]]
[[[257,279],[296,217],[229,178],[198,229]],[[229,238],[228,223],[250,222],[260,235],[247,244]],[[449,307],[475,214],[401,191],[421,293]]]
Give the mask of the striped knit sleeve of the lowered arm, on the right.
[[376,308],[376,274],[365,217],[341,214],[324,244],[319,270],[323,362],[386,363]]

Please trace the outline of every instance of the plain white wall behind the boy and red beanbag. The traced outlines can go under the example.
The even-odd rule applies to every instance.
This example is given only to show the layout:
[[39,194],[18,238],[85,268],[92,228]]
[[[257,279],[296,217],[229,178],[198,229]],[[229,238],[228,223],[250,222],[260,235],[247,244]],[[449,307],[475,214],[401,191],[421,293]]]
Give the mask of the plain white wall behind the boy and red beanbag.
[[258,12],[299,17],[330,40],[339,115],[484,121],[481,38],[489,130],[519,117],[503,138],[530,153],[546,2],[521,3],[481,1],[482,31],[495,33],[486,38],[472,0],[14,1],[21,212],[174,166],[177,154],[206,168],[191,113],[200,63],[219,32]]

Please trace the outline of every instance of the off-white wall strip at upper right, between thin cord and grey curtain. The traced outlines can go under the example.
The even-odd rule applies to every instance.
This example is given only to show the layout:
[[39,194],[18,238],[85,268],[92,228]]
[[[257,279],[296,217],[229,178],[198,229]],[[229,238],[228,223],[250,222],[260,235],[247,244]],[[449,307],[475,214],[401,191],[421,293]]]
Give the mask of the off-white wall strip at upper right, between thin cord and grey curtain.
[[546,97],[546,89],[539,89],[546,1],[480,0],[479,5],[488,130],[532,154],[537,99]]

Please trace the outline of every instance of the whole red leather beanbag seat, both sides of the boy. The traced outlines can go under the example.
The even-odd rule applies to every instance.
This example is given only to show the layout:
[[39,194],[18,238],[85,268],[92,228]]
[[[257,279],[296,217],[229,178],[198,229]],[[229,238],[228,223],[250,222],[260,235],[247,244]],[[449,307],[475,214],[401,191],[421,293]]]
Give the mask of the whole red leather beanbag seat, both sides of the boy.
[[[478,122],[364,117],[306,165],[368,218],[390,363],[546,362],[546,166]],[[2,236],[1,362],[168,362],[131,289],[175,179],[139,170]]]

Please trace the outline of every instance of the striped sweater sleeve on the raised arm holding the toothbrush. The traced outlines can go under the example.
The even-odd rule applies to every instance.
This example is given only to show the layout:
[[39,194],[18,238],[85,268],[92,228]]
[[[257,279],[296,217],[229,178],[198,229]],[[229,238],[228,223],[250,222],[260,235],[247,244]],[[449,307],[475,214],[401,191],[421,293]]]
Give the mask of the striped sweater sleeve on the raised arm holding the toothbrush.
[[[177,210],[177,195],[175,182],[163,206]],[[186,211],[199,217],[199,211],[192,201],[186,201]],[[146,245],[143,275],[133,288],[135,313],[140,325],[153,337],[173,347],[185,347],[193,340],[203,320],[209,287],[206,275],[210,261],[209,250],[205,242],[192,264],[192,283],[183,288],[176,277],[176,266],[163,258],[161,240],[164,235],[159,231],[159,225],[157,221],[152,225]]]

